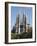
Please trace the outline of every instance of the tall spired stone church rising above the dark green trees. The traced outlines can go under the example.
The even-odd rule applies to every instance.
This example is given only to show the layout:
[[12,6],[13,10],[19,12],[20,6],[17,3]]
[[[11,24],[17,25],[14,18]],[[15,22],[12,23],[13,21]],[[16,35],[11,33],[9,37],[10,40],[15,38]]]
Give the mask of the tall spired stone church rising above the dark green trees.
[[18,14],[16,16],[16,33],[22,33],[22,32],[27,32],[27,23],[28,19],[27,17],[23,14],[20,15]]

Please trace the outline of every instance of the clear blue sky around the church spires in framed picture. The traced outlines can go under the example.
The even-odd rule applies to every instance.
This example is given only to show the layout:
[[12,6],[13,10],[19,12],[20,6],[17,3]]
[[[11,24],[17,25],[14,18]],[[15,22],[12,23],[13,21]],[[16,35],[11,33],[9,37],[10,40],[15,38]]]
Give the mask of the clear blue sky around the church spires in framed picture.
[[17,13],[25,14],[29,18],[29,24],[32,25],[32,7],[16,7],[11,6],[11,28],[16,23],[16,15]]

